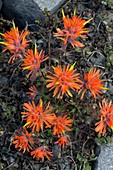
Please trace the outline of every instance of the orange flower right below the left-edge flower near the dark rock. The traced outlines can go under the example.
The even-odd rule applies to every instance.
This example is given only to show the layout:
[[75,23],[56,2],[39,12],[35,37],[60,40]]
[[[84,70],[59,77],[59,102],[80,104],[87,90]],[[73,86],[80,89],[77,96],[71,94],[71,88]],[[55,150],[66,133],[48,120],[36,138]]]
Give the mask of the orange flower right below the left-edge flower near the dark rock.
[[29,49],[27,53],[25,53],[25,58],[23,59],[22,69],[23,70],[30,70],[27,77],[30,75],[36,75],[37,71],[40,72],[40,64],[47,60],[48,57],[45,58],[43,50],[38,53],[35,44],[35,50]]

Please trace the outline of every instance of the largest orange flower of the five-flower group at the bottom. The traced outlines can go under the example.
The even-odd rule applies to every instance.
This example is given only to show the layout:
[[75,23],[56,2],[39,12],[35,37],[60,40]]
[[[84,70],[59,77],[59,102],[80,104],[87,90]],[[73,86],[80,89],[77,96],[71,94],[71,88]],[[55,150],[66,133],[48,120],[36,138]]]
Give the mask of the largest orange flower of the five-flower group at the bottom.
[[[23,115],[23,120],[26,120],[27,123],[24,125],[24,127],[32,128],[32,132],[35,130],[37,132],[43,130],[44,123],[46,124],[46,128],[50,128],[53,124],[53,121],[55,119],[55,114],[49,112],[52,111],[53,108],[49,108],[50,103],[48,103],[47,107],[43,109],[42,100],[40,99],[39,105],[36,106],[35,103],[32,101],[31,103],[24,103],[24,109],[26,112],[21,112]],[[48,109],[49,108],[49,109]]]

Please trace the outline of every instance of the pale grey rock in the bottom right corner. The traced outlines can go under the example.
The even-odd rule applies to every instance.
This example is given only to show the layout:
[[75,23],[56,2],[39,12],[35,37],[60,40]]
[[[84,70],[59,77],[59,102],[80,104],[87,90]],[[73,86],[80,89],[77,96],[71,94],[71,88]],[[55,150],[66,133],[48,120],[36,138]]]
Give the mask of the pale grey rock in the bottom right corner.
[[94,170],[113,170],[113,139],[111,143],[101,146]]

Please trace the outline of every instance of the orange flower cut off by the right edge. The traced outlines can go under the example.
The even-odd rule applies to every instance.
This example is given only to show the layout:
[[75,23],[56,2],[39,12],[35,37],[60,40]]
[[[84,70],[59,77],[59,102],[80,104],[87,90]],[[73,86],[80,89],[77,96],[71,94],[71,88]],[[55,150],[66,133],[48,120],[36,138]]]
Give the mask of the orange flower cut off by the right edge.
[[100,106],[100,121],[95,123],[96,132],[102,134],[102,136],[106,133],[107,126],[113,130],[113,106],[111,106],[112,101],[109,104],[106,103],[105,100],[102,100],[102,105],[99,103]]

